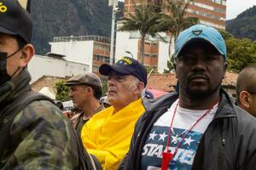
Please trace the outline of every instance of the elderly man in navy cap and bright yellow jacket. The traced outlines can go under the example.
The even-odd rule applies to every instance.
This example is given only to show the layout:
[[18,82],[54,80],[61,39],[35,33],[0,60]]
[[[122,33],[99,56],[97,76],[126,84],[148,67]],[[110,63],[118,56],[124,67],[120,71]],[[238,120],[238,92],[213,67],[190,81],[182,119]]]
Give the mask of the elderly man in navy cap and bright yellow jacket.
[[108,102],[112,105],[93,116],[81,133],[84,147],[103,169],[117,169],[129,150],[137,119],[143,114],[141,94],[147,71],[136,59],[123,57],[115,65],[101,65],[108,76]]

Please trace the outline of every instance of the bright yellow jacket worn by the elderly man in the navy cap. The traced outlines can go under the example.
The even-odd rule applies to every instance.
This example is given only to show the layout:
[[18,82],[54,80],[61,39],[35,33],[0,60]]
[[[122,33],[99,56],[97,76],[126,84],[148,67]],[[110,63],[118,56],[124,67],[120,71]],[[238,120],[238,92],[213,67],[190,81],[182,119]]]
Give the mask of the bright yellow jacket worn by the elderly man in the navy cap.
[[113,106],[84,124],[81,132],[84,147],[97,157],[103,169],[117,169],[129,150],[137,119],[143,114],[142,99],[137,99],[113,114]]

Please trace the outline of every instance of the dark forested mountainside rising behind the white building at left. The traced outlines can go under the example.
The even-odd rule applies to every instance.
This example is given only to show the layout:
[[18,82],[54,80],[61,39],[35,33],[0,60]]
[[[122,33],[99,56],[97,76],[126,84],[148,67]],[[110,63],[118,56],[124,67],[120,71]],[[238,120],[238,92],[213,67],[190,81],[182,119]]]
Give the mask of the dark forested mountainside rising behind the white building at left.
[[[119,2],[122,9],[123,3]],[[119,18],[122,11],[118,14]],[[32,1],[32,43],[46,54],[53,37],[97,35],[110,37],[112,8],[106,0]]]

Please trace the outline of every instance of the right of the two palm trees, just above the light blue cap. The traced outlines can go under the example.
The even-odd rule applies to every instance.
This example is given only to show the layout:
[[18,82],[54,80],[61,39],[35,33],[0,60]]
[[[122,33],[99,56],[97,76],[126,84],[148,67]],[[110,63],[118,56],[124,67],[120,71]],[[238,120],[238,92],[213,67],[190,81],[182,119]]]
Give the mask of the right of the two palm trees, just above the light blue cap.
[[[158,20],[158,31],[167,31],[171,34],[169,41],[169,61],[167,62],[168,71],[172,71],[172,40],[177,40],[178,34],[186,28],[193,26],[199,22],[198,18],[187,17],[186,9],[193,0],[168,0],[164,5],[166,14],[160,14]],[[167,71],[167,70],[166,70]]]

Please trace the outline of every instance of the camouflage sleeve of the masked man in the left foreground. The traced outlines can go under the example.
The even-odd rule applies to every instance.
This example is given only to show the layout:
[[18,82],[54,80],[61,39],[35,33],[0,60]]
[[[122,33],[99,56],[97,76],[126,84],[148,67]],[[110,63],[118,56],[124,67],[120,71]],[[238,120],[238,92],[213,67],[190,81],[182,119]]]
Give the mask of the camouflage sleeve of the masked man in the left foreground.
[[17,147],[6,169],[78,169],[76,138],[70,122],[49,101],[35,101],[10,129]]

